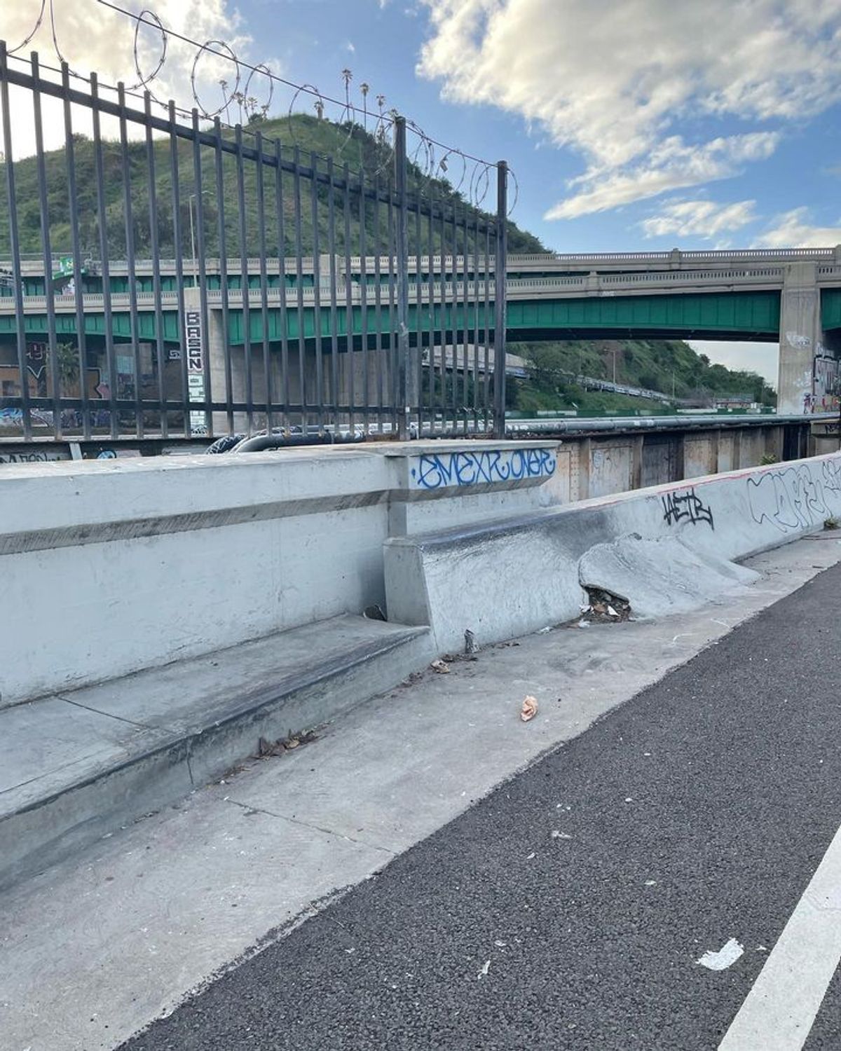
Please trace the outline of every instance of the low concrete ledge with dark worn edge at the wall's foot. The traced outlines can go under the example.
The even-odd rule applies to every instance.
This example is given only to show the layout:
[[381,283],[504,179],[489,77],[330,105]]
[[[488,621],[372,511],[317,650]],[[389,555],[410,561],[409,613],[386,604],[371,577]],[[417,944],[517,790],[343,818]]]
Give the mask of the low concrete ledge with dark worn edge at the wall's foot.
[[0,886],[395,685],[425,628],[336,617],[0,712]]

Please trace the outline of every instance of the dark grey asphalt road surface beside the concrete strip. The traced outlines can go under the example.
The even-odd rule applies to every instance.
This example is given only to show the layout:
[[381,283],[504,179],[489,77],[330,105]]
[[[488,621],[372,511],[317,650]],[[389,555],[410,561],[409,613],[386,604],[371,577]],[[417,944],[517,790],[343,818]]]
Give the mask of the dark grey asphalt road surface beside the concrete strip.
[[[770,1031],[730,1051],[841,1049],[835,964],[816,976],[841,885],[820,944],[808,916],[780,939],[841,824],[840,595],[841,566],[124,1047],[695,1051],[744,1005]],[[802,1017],[748,996],[766,962],[764,1003]]]

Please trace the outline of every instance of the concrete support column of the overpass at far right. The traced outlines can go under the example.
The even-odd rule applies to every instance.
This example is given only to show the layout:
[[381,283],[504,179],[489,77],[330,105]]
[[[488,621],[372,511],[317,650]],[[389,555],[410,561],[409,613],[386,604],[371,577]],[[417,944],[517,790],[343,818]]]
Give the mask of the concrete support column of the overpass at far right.
[[821,301],[815,263],[791,263],[780,297],[777,411],[812,411],[815,353],[821,343]]

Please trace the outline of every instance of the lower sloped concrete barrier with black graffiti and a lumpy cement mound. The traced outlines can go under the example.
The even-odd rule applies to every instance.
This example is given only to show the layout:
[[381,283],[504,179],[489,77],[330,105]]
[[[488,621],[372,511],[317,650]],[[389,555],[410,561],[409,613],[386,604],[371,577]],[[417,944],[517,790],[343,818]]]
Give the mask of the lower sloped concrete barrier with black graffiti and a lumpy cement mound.
[[584,585],[640,615],[709,601],[750,581],[735,560],[841,516],[841,454],[390,538],[389,617],[431,625],[439,653],[579,616]]

